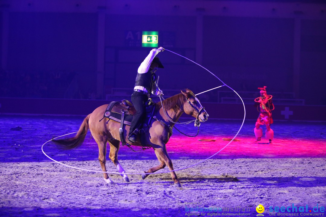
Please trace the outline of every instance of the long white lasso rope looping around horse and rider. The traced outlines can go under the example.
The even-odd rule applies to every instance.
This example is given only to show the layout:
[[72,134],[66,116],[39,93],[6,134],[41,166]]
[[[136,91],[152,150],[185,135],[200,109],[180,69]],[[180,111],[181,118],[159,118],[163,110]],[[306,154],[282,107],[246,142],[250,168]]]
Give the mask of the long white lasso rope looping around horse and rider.
[[[165,50],[167,50],[167,49],[165,49]],[[167,51],[170,51],[170,50],[167,50]],[[192,61],[192,60],[190,60],[190,59],[188,59],[188,58],[186,58],[186,57],[184,57],[184,56],[182,56],[182,55],[180,55],[180,54],[177,54],[177,53],[175,53],[175,52],[173,52],[173,51],[170,51],[171,53],[174,53],[174,54],[176,54],[176,55],[178,55],[178,56],[180,56],[180,57],[183,57],[183,58],[185,58],[185,59],[187,59],[187,60],[189,60],[189,61],[191,61],[191,62],[193,62],[193,63],[195,63],[195,64],[197,64],[197,65],[199,65],[200,67],[202,67],[203,69],[205,69],[206,71],[208,71],[209,73],[211,73],[212,75],[214,75],[212,72],[210,72],[208,69],[206,69],[205,67],[203,67],[203,66],[201,66],[200,64],[198,64],[197,62],[194,62],[194,61]],[[214,75],[219,81],[221,81],[222,83],[223,83],[223,85],[222,86],[219,86],[219,87],[216,87],[216,88],[220,88],[220,87],[223,87],[223,86],[226,86],[226,87],[228,87],[228,88],[230,88],[228,85],[226,85],[221,79],[219,79],[216,75]],[[216,88],[213,88],[213,89],[216,89]],[[210,91],[210,90],[213,90],[213,89],[209,89],[209,90],[206,90],[206,91],[204,91],[204,92],[207,92],[207,91]],[[243,104],[243,106],[244,106],[244,101],[242,100],[242,98],[240,97],[240,95],[234,90],[234,89],[232,89],[232,88],[230,88],[231,90],[233,90],[237,95],[238,95],[238,97],[240,98],[240,100],[241,100],[241,102],[242,102],[242,104]],[[204,92],[201,92],[201,93],[204,93]],[[199,94],[201,94],[201,93],[198,93],[198,94],[195,94],[195,95],[199,95]],[[82,169],[82,168],[78,168],[78,167],[72,167],[72,166],[69,166],[69,165],[66,165],[66,164],[64,164],[64,163],[61,163],[61,162],[59,162],[59,161],[56,161],[56,160],[54,160],[54,159],[52,159],[50,156],[48,156],[47,154],[45,154],[45,152],[43,151],[43,146],[46,144],[46,143],[48,143],[48,142],[50,142],[50,141],[52,141],[53,139],[56,139],[56,138],[59,138],[59,137],[62,137],[62,136],[66,136],[66,135],[70,135],[70,134],[73,134],[73,133],[77,133],[77,132],[73,132],[73,133],[68,133],[68,134],[65,134],[65,135],[62,135],[62,136],[58,136],[58,137],[56,137],[56,138],[53,138],[53,139],[51,139],[51,140],[49,140],[49,141],[47,141],[47,142],[45,142],[43,145],[42,145],[42,147],[41,147],[41,149],[42,149],[42,152],[43,152],[43,154],[45,155],[45,156],[47,156],[48,158],[50,158],[52,161],[54,161],[54,162],[57,162],[57,163],[59,163],[59,164],[62,164],[62,165],[64,165],[64,166],[66,166],[66,167],[70,167],[70,168],[73,168],[73,169],[78,169],[78,170],[85,170],[85,171],[90,171],[90,172],[97,172],[97,173],[111,173],[111,174],[127,174],[127,175],[132,175],[132,174],[158,174],[158,173],[166,173],[166,172],[172,172],[172,171],[178,171],[178,170],[184,170],[184,169],[188,169],[188,168],[190,168],[190,167],[194,167],[194,166],[196,166],[196,165],[198,165],[198,164],[200,164],[200,163],[202,163],[202,162],[204,162],[204,161],[206,161],[206,160],[208,160],[208,159],[211,159],[212,157],[214,157],[215,155],[217,155],[218,153],[220,153],[222,150],[224,150],[234,139],[235,139],[235,137],[237,137],[237,135],[239,134],[239,132],[240,132],[240,130],[242,129],[242,127],[243,127],[243,125],[244,125],[244,119],[245,119],[245,106],[244,106],[244,118],[243,118],[243,121],[242,121],[242,124],[241,124],[241,126],[240,126],[240,128],[239,128],[239,130],[237,131],[237,133],[235,134],[235,136],[230,140],[230,142],[228,143],[228,144],[226,144],[222,149],[220,149],[218,152],[216,152],[214,155],[212,155],[212,156],[209,156],[209,157],[207,157],[206,159],[204,159],[204,160],[202,160],[202,161],[200,161],[200,162],[198,162],[198,163],[195,163],[195,164],[193,164],[193,165],[190,165],[190,166],[188,166],[188,167],[184,167],[184,168],[180,168],[180,169],[176,169],[176,170],[169,170],[169,171],[164,171],[164,172],[153,172],[153,173],[121,173],[121,172],[103,172],[103,171],[98,171],[98,170],[87,170],[87,169]]]

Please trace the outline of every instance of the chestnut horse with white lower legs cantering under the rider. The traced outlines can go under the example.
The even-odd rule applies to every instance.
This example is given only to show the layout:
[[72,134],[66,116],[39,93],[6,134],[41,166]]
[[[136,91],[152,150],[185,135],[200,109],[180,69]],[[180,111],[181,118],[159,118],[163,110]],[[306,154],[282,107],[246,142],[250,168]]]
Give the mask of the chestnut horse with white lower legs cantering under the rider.
[[[164,112],[163,108],[166,112]],[[150,124],[149,130],[145,133],[145,141],[146,144],[141,144],[141,139],[139,136],[137,137],[137,141],[127,142],[130,145],[135,146],[146,146],[146,147],[153,147],[156,157],[160,162],[159,165],[150,168],[147,171],[143,171],[142,179],[145,179],[149,173],[156,172],[157,170],[165,168],[168,166],[169,170],[173,170],[172,161],[168,155],[166,150],[166,144],[170,139],[172,127],[175,122],[178,121],[180,116],[185,113],[187,115],[191,115],[195,117],[197,120],[199,119],[200,122],[205,122],[208,119],[208,114],[205,109],[200,104],[200,101],[195,96],[195,94],[186,89],[185,91],[181,90],[181,93],[174,95],[170,98],[167,98],[161,102],[157,102],[154,106],[154,113],[153,116],[156,116],[156,119]],[[108,173],[106,173],[106,149],[107,149],[107,142],[110,144],[110,154],[109,158],[116,166],[117,170],[119,171],[120,175],[123,177],[123,180],[129,182],[129,178],[127,174],[125,174],[125,170],[120,165],[118,161],[118,151],[120,148],[120,135],[119,135],[119,128],[120,123],[111,119],[106,118],[106,121],[99,121],[103,118],[103,114],[106,111],[108,104],[99,106],[96,108],[91,114],[87,115],[82,122],[77,134],[73,138],[68,139],[60,139],[54,140],[56,144],[59,146],[66,148],[66,149],[73,149],[79,147],[86,136],[88,129],[90,129],[93,138],[95,139],[98,145],[98,159],[104,172],[104,180],[107,184],[112,184],[112,180],[109,178]],[[166,115],[165,115],[166,114]],[[167,117],[169,116],[169,118]],[[161,121],[160,121],[161,120]],[[164,120],[164,121],[162,121]],[[168,123],[164,124],[162,122]],[[198,122],[198,125],[200,124]],[[195,123],[196,126],[196,123]],[[129,126],[126,125],[125,129],[123,129],[124,134],[129,134]],[[125,137],[126,137],[125,136]],[[127,137],[125,138],[127,140]],[[171,171],[171,178],[174,182],[174,185],[177,187],[181,187],[180,181],[175,174],[174,171]]]

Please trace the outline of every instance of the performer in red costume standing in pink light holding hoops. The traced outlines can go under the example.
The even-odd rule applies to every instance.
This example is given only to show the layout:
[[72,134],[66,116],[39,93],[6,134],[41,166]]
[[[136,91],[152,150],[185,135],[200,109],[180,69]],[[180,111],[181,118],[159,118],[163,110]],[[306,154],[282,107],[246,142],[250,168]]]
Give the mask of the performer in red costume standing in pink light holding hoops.
[[255,104],[257,104],[257,110],[259,111],[259,116],[256,122],[256,128],[254,129],[256,140],[258,142],[261,140],[263,135],[263,130],[260,125],[266,125],[265,136],[272,143],[274,138],[274,131],[271,129],[270,125],[273,124],[272,112],[274,110],[274,105],[272,102],[272,95],[267,95],[266,86],[260,89],[260,97],[255,99]]

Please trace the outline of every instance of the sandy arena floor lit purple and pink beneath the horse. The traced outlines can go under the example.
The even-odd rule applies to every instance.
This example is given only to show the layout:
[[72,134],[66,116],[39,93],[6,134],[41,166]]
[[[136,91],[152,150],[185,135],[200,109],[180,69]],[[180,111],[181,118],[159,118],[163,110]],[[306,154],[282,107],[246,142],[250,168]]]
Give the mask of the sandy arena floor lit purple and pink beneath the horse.
[[[182,184],[178,188],[172,185],[170,173],[152,174],[144,180],[141,175],[129,175],[130,183],[111,174],[114,184],[107,185],[102,173],[68,168],[43,155],[44,142],[77,131],[83,117],[0,118],[0,216],[256,216],[259,204],[265,207],[265,216],[326,214],[320,210],[326,207],[324,123],[274,120],[275,139],[267,144],[265,138],[253,142],[255,121],[246,121],[239,142],[230,143],[212,159],[177,171]],[[196,138],[174,130],[167,144],[174,169],[220,150],[228,143],[222,138],[232,138],[240,125],[236,120],[209,120]],[[193,126],[180,129],[189,134],[197,131]],[[201,138],[215,141],[198,141]],[[47,143],[44,151],[67,165],[100,171],[97,145],[90,136],[75,150],[62,151]],[[127,147],[121,147],[119,161],[130,173],[158,164],[152,149],[132,152]],[[116,172],[111,161],[107,169]],[[292,204],[298,209],[307,205],[308,212],[269,211]],[[319,210],[314,212],[317,204]],[[219,211],[197,211],[205,208]]]

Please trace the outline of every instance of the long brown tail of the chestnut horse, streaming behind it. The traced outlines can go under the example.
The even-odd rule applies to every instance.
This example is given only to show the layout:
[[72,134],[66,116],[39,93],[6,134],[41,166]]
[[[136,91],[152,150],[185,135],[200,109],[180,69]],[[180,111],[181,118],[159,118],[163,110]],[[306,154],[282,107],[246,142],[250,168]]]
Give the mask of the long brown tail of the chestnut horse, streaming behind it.
[[68,139],[52,140],[52,141],[55,142],[63,149],[73,149],[81,146],[87,134],[89,116],[91,116],[91,114],[85,117],[75,137],[68,138]]

